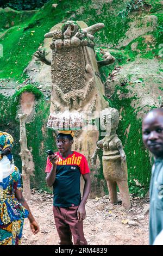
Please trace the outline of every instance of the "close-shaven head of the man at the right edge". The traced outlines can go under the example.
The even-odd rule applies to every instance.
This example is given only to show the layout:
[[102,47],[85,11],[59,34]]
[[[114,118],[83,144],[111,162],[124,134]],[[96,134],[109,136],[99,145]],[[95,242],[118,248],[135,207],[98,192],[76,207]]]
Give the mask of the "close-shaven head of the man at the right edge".
[[145,146],[155,157],[163,158],[163,108],[152,109],[142,123]]

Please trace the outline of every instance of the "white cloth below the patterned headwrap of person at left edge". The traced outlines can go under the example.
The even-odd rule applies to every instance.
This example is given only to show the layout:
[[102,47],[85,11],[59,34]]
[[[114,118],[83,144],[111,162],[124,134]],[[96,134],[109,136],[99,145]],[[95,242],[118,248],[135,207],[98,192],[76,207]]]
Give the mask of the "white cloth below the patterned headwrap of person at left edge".
[[3,156],[3,159],[0,161],[0,182],[14,172],[14,168],[14,164],[10,162],[8,157]]

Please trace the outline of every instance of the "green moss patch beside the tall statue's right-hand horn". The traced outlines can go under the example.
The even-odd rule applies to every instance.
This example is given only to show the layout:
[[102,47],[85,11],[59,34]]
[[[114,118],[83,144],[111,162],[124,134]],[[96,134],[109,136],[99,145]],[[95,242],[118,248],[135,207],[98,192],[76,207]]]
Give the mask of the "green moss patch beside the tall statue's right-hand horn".
[[124,3],[117,5],[116,0],[103,3],[102,5],[85,1],[82,14],[76,13],[76,19],[85,21],[88,26],[98,22],[105,24],[105,28],[101,29],[101,31],[96,34],[96,46],[115,46],[120,39],[124,38],[129,27],[128,23],[130,19],[126,18],[122,20],[121,17],[118,16],[118,11],[121,10],[122,5],[124,5]]

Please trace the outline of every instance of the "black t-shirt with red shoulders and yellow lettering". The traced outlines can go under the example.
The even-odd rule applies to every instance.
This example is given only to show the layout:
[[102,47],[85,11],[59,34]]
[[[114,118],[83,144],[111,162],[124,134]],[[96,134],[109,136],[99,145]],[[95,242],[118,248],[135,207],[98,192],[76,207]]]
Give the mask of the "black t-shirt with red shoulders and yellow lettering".
[[[59,152],[56,176],[53,184],[54,206],[70,207],[78,206],[81,202],[80,194],[80,174],[90,173],[84,155],[73,151],[66,159],[62,159]],[[52,163],[47,157],[46,173],[51,172]]]

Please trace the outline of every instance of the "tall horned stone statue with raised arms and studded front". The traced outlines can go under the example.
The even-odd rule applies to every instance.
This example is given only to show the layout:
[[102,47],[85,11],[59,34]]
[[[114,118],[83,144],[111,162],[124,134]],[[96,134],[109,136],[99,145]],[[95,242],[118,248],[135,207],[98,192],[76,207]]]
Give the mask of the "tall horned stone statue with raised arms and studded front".
[[92,118],[93,113],[99,113],[106,107],[98,68],[115,61],[107,50],[102,49],[104,60],[96,61],[93,35],[103,27],[103,23],[87,27],[84,22],[74,21],[56,25],[45,34],[45,38],[52,38],[52,60],[46,59],[45,51],[35,53],[37,60],[51,65],[51,108],[47,127],[77,130],[74,149],[88,160],[91,160],[99,131],[91,125],[89,130],[81,130],[83,121],[85,115]]

